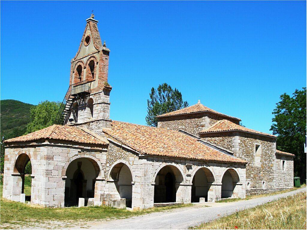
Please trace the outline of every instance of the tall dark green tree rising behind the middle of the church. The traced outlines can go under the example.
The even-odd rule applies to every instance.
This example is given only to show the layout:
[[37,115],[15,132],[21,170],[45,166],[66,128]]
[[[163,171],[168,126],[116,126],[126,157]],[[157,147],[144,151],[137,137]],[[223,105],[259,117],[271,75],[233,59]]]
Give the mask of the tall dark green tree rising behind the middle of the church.
[[166,83],[159,85],[157,90],[151,88],[149,96],[146,115],[146,123],[149,126],[157,127],[158,115],[188,107],[188,102],[182,100],[181,92],[176,88],[173,90]]

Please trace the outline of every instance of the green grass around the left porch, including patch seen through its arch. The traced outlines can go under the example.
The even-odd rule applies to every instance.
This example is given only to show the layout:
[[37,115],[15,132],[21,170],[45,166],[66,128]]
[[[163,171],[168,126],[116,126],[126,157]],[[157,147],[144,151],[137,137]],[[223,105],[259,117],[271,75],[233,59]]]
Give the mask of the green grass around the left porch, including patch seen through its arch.
[[[16,228],[30,223],[44,223],[46,221],[76,221],[76,220],[103,220],[116,219],[160,212],[181,207],[190,207],[192,204],[172,205],[167,207],[154,207],[145,210],[130,211],[116,209],[109,206],[70,207],[70,208],[42,208],[37,205],[23,204],[8,201],[2,198],[3,176],[1,177],[1,227]],[[31,195],[31,177],[25,177],[25,194]],[[5,226],[3,226],[5,224]],[[48,227],[48,226],[47,226]]]

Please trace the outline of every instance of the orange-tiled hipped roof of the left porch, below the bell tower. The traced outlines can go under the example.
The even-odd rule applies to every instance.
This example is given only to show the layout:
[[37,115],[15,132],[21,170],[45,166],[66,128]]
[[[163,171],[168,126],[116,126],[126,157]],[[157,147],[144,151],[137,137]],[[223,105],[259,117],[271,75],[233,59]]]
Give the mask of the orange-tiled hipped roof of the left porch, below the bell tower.
[[47,128],[31,132],[24,136],[5,140],[5,143],[24,142],[39,139],[68,140],[87,144],[108,144],[107,140],[104,140],[95,134],[91,134],[90,131],[86,132],[85,129],[67,125],[51,125]]

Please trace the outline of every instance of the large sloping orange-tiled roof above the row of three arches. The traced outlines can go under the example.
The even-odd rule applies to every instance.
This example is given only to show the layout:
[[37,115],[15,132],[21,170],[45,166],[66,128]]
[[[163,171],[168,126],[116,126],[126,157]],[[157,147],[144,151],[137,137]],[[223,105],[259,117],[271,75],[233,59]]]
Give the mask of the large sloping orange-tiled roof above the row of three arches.
[[209,148],[195,138],[178,131],[120,121],[112,121],[111,129],[105,128],[103,131],[142,154],[246,163],[244,160]]

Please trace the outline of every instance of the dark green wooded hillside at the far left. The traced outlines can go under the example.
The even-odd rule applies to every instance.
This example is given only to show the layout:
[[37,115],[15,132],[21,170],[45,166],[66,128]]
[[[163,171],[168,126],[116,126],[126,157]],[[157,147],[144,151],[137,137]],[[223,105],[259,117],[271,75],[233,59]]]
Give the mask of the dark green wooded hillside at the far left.
[[34,105],[16,100],[0,101],[1,137],[9,135],[15,128],[23,129],[30,121],[30,108]]

